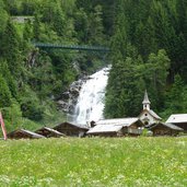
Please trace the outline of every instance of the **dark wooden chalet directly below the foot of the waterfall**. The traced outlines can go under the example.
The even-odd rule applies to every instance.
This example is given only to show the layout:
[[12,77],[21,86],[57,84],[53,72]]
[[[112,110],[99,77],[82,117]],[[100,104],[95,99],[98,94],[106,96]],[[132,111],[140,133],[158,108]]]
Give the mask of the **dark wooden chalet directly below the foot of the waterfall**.
[[84,137],[89,127],[70,122],[62,122],[54,127],[55,130],[69,137]]

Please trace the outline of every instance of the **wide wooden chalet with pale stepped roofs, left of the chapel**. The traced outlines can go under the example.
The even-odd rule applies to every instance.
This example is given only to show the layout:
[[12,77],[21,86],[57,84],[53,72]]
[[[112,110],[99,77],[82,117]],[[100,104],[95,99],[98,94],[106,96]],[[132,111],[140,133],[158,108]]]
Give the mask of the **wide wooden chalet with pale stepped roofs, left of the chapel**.
[[106,119],[95,122],[86,133],[100,137],[139,136],[142,126],[139,118]]

